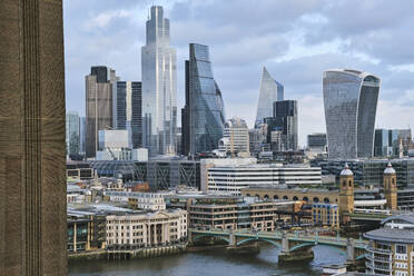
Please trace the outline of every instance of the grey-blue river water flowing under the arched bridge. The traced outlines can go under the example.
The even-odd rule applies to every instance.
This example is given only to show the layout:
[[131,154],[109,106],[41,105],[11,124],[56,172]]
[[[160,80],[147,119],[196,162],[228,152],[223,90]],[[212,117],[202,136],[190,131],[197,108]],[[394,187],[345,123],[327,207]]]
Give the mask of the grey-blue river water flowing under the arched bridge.
[[226,249],[200,253],[183,253],[156,258],[117,262],[81,262],[69,266],[70,276],[316,276],[322,265],[343,264],[346,259],[338,249],[314,247],[314,260],[279,267],[278,249],[260,245],[259,253],[235,254]]

